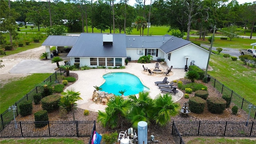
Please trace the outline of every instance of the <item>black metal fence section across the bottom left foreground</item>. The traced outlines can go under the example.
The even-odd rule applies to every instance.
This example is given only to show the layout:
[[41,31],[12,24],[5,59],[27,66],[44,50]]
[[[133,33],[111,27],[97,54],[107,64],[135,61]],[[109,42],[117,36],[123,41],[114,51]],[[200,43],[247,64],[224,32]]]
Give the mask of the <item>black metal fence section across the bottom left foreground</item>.
[[0,138],[91,136],[92,130],[96,129],[96,121],[46,121],[43,128],[36,128],[35,122],[0,123],[8,123],[0,132]]

